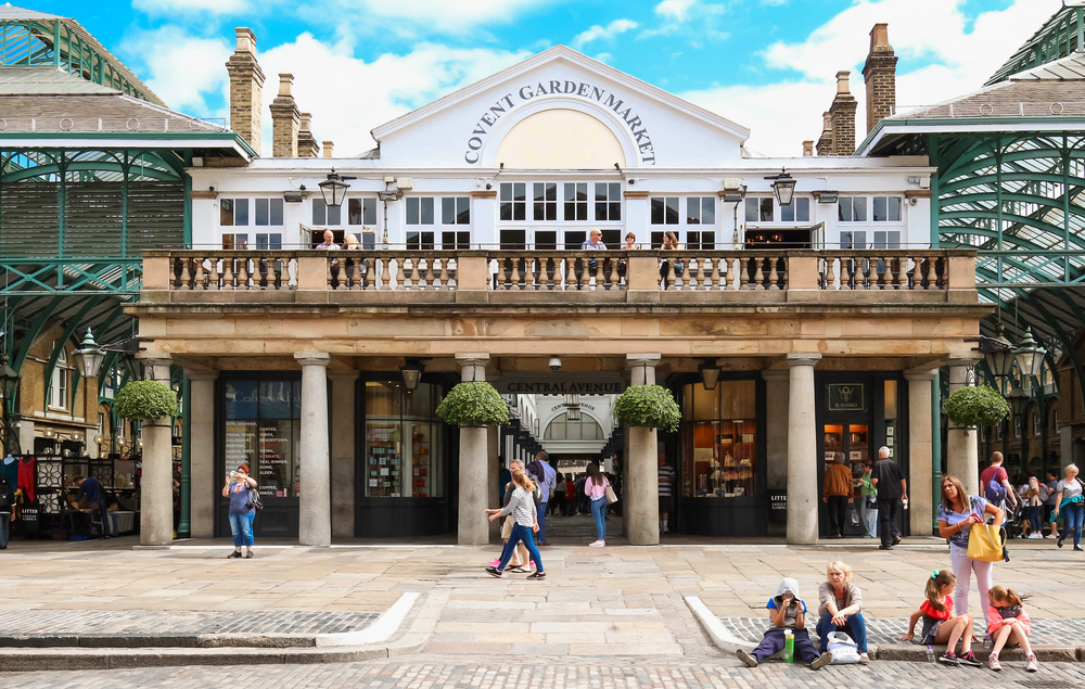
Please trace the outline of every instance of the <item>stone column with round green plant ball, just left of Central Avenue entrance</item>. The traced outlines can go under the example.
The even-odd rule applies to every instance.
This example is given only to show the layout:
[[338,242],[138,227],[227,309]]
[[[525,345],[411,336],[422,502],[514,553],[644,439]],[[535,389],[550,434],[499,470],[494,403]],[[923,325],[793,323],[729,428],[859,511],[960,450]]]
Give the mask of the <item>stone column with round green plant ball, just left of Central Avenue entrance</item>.
[[437,406],[437,417],[460,426],[460,500],[458,541],[489,543],[489,524],[483,510],[489,495],[489,461],[486,426],[509,421],[505,400],[486,382],[459,383]]

